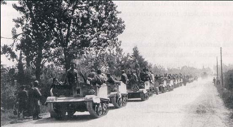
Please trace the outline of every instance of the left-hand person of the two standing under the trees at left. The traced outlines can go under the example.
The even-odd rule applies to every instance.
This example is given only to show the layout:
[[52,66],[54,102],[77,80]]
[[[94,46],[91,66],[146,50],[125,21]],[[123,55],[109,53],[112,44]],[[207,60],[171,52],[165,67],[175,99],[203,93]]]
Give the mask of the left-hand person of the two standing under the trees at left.
[[25,86],[20,87],[20,91],[18,93],[17,97],[17,103],[18,103],[18,119],[20,119],[20,115],[23,115],[23,119],[26,116],[27,111],[27,100],[28,100],[28,93],[25,90]]

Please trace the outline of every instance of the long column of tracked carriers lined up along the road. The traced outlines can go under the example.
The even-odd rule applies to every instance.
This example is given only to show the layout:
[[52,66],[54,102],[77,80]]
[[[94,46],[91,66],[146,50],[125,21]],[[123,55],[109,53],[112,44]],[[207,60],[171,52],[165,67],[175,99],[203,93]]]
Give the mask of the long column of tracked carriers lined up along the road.
[[87,82],[76,83],[74,86],[64,83],[51,88],[51,96],[46,100],[50,116],[55,119],[72,117],[76,112],[88,111],[93,118],[99,118],[108,113],[109,104],[115,108],[127,105],[129,99],[148,100],[153,94],[165,93],[182,86],[185,82],[194,81],[193,77],[161,77],[157,80],[135,81],[114,85],[102,83],[100,86]]

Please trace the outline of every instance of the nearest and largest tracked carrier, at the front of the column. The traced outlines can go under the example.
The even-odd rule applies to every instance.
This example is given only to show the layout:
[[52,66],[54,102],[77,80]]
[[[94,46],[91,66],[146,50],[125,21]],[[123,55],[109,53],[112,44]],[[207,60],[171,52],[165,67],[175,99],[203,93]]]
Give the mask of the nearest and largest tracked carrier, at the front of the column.
[[77,84],[55,86],[53,96],[49,96],[46,103],[52,118],[64,119],[77,111],[88,111],[93,118],[99,118],[108,113],[109,101],[106,84],[100,88]]

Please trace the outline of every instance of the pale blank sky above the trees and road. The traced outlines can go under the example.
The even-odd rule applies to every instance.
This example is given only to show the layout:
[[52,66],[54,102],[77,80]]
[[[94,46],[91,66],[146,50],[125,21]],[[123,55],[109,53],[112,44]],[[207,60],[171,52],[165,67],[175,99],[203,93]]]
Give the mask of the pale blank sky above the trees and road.
[[[223,47],[224,64],[233,64],[233,2],[115,1],[126,29],[119,40],[126,53],[137,46],[147,61],[164,67],[197,68],[216,64]],[[1,7],[1,36],[11,37],[13,18],[8,2]],[[2,39],[3,44],[12,40]],[[14,63],[1,56],[6,65]]]

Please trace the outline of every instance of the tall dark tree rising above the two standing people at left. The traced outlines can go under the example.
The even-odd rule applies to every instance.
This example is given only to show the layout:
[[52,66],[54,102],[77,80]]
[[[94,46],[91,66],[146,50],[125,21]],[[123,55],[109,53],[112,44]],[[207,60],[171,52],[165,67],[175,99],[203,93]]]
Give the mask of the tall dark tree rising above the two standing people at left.
[[[54,28],[54,18],[50,12],[53,11],[54,4],[57,2],[19,0],[19,4],[13,5],[13,8],[22,14],[21,17],[14,19],[16,25],[12,30],[13,38],[18,42],[17,50],[26,56],[27,66],[34,62],[37,80],[40,80],[41,68],[50,52],[51,29]],[[22,33],[16,33],[18,28]]]

